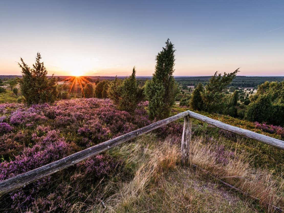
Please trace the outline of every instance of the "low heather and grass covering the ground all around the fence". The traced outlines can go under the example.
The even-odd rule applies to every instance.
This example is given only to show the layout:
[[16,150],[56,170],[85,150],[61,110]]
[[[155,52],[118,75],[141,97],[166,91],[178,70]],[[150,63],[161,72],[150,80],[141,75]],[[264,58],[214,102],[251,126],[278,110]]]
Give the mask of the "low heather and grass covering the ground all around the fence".
[[[2,104],[1,180],[147,126],[146,109],[147,102],[131,114],[116,109],[109,99],[93,98],[30,107]],[[171,114],[182,110],[174,108]],[[214,116],[229,124],[238,121]],[[282,137],[282,129],[272,133],[252,122],[239,124]],[[265,212],[271,209],[267,202],[283,206],[283,151],[194,122],[191,163],[262,199],[254,203],[216,185],[207,173],[181,164],[182,126],[182,120],[164,126],[11,192],[1,199],[2,211],[100,212],[101,200],[106,212]]]

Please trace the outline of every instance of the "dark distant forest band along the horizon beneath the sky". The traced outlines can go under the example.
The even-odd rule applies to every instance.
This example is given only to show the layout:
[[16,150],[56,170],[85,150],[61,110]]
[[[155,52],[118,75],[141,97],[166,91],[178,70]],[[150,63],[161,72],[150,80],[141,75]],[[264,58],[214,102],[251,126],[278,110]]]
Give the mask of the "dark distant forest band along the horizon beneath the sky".
[[[22,78],[22,76],[18,75],[0,75],[0,79],[4,78]],[[51,76],[48,76],[49,78]],[[63,81],[66,78],[69,78],[71,76],[55,76],[59,81]],[[199,82],[201,82],[203,85],[206,85],[209,79],[212,76],[199,76],[199,77],[179,77],[176,76],[174,77],[176,82],[181,84],[182,86],[187,86],[187,85],[197,85]],[[144,77],[144,76],[137,76],[136,79],[139,80],[146,80],[146,79],[151,80],[151,77]],[[96,82],[96,81],[101,81],[101,80],[114,80],[115,77],[109,77],[109,76],[85,76],[86,80],[89,80],[89,82]],[[118,79],[124,79],[124,77],[118,77]],[[284,80],[284,76],[265,76],[265,77],[248,77],[248,76],[236,76],[235,79],[233,79],[233,82],[229,85],[230,86],[235,86],[235,87],[256,87],[266,81],[268,82],[282,82]]]

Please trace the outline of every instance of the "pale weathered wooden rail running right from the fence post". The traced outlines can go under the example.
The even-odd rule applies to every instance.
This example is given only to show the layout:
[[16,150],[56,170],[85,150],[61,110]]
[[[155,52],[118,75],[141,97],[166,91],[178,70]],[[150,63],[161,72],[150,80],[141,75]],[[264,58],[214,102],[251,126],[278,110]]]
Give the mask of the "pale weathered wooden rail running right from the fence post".
[[225,123],[220,122],[218,120],[214,120],[214,119],[208,118],[204,115],[197,114],[195,112],[191,112],[191,111],[188,111],[188,112],[189,112],[189,116],[191,118],[195,118],[195,119],[200,120],[202,122],[205,122],[207,124],[211,124],[213,126],[216,126],[216,127],[220,128],[222,130],[229,131],[229,132],[235,133],[237,135],[241,135],[241,136],[249,138],[249,139],[254,139],[254,140],[259,141],[261,143],[265,143],[267,145],[277,147],[279,149],[284,150],[284,141],[281,141],[281,140],[278,140],[278,139],[275,139],[273,137],[269,137],[269,136],[266,136],[266,135],[262,135],[262,134],[259,134],[259,133],[256,133],[256,132],[253,132],[253,131],[250,131],[250,130],[244,130],[244,129],[241,129],[239,127],[231,126],[229,124],[225,124]]

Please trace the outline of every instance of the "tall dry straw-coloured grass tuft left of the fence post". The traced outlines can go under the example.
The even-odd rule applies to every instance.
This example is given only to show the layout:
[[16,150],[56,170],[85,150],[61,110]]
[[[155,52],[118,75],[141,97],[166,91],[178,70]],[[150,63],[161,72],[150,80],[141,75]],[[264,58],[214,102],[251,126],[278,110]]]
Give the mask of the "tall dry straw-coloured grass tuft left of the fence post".
[[[153,142],[156,145],[153,145]],[[105,199],[105,203],[111,203],[106,212],[127,212],[131,205],[139,203],[139,199],[149,193],[150,188],[162,184],[165,174],[175,170],[181,159],[178,147],[173,148],[175,145],[172,143],[170,138],[161,143],[156,141],[153,134],[148,134],[137,139],[135,144],[120,147],[120,154],[128,154],[128,163],[136,163],[136,170],[130,181],[110,181],[105,186],[106,194],[117,190]]]

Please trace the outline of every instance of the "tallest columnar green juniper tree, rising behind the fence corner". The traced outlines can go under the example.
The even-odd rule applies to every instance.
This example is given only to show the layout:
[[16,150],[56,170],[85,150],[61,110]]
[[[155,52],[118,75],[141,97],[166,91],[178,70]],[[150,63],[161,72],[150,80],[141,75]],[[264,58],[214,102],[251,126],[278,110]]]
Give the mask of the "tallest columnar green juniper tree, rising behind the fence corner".
[[149,101],[148,113],[150,119],[163,119],[169,116],[170,109],[175,103],[178,94],[178,86],[175,82],[174,62],[175,62],[174,45],[168,39],[166,47],[156,56],[155,73],[152,80],[145,84],[144,93]]

